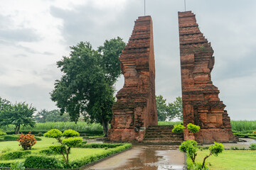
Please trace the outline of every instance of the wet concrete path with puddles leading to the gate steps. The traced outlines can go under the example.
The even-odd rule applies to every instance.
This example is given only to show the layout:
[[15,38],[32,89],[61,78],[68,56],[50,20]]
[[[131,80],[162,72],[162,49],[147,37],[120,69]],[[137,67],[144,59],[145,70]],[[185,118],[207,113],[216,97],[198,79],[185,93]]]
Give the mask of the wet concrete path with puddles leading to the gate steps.
[[134,145],[131,150],[88,167],[90,170],[171,170],[185,169],[184,154],[177,146]]

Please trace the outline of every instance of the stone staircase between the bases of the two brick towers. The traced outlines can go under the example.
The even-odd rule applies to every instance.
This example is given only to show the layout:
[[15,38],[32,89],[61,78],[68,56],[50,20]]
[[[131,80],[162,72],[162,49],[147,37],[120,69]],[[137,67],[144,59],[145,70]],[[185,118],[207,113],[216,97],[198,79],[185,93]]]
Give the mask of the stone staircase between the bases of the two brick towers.
[[183,133],[171,132],[173,125],[152,125],[146,128],[144,144],[180,145]]

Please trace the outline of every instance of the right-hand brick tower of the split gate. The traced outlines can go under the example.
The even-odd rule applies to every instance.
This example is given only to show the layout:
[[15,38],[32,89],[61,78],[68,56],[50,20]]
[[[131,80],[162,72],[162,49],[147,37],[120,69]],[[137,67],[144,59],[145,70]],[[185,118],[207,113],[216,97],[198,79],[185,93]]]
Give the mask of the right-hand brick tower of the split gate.
[[178,12],[178,30],[181,55],[181,86],[183,99],[183,123],[200,125],[195,135],[184,132],[184,139],[198,142],[235,141],[230,118],[211,81],[213,48],[203,36],[191,11]]

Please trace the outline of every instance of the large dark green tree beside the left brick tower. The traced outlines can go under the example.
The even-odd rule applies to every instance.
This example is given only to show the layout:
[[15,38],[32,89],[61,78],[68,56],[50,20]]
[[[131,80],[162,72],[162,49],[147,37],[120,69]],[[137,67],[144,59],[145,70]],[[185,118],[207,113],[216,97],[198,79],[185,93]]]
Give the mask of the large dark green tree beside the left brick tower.
[[51,99],[60,112],[69,113],[77,122],[85,120],[102,123],[105,135],[112,118],[114,83],[121,74],[119,55],[125,43],[122,38],[106,40],[97,50],[89,42],[70,47],[69,57],[57,62],[63,77],[55,81]]

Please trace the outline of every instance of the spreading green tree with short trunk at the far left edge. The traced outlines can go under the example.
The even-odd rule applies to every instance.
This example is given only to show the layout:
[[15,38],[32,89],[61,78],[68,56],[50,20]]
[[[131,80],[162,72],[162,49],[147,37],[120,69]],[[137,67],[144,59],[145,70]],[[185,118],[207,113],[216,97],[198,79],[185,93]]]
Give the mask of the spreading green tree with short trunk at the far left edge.
[[15,125],[15,133],[18,135],[21,125],[36,126],[33,118],[35,111],[36,108],[26,103],[10,104],[0,110],[0,125]]

